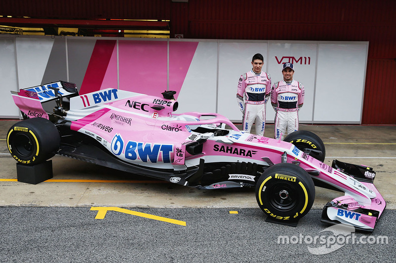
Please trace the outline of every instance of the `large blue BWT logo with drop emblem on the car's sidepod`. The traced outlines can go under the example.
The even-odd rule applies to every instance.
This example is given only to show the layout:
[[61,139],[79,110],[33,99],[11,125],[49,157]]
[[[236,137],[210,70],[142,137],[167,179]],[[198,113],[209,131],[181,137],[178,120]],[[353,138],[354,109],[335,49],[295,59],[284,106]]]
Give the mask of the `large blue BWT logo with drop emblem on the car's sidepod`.
[[[121,155],[124,150],[124,140],[120,134],[116,134],[111,141],[111,151],[115,155]],[[137,160],[138,157],[143,162],[156,163],[159,155],[162,155],[163,162],[170,161],[170,153],[173,152],[173,145],[169,144],[151,144],[128,141],[125,146],[124,157],[129,160]]]

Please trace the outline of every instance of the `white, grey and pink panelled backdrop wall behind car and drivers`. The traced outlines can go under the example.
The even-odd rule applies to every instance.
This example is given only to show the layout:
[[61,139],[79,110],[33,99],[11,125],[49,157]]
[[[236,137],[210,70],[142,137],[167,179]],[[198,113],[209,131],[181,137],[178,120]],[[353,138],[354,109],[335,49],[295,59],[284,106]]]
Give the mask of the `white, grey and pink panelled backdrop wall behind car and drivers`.
[[[9,90],[67,80],[80,94],[118,88],[160,96],[175,90],[177,113],[241,121],[239,77],[255,53],[273,83],[294,63],[305,86],[301,123],[361,123],[368,42],[0,36],[0,117],[17,117]],[[347,61],[348,63],[342,63]],[[349,73],[354,72],[353,78]],[[275,112],[267,107],[266,120]],[[14,112],[14,115],[11,114]]]

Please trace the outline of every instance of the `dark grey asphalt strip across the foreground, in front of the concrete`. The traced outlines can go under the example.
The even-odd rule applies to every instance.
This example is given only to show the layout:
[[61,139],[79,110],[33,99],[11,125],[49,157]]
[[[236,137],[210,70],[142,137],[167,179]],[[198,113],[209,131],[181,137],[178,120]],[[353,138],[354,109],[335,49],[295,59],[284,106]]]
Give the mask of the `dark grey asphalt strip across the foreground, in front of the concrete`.
[[297,227],[267,223],[253,208],[131,210],[186,226],[113,211],[99,220],[89,207],[1,207],[0,262],[394,262],[395,210],[371,234],[338,234],[318,209]]

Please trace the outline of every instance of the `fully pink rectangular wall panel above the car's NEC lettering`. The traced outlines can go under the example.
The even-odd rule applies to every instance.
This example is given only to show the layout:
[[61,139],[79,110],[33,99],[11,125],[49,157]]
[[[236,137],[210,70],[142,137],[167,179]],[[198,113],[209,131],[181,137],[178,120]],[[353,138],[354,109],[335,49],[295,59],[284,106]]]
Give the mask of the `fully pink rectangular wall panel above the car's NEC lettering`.
[[118,42],[120,89],[159,95],[167,89],[167,41]]

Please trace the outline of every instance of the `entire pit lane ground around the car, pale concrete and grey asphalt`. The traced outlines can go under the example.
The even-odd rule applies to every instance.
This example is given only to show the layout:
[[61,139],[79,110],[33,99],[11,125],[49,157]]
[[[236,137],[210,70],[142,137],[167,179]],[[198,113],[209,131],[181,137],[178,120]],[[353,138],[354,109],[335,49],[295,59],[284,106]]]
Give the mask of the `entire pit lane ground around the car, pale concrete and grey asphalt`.
[[[311,255],[307,252],[306,244],[305,247],[278,244],[275,247],[271,245],[268,247],[268,244],[274,245],[275,236],[283,233],[284,235],[288,233],[320,235],[320,231],[327,225],[320,223],[321,210],[316,209],[321,209],[327,201],[342,194],[316,188],[313,210],[300,221],[297,228],[294,228],[265,223],[265,217],[256,204],[254,189],[205,191],[186,188],[146,177],[131,176],[61,156],[52,158],[53,179],[65,181],[43,182],[38,185],[19,183],[15,182],[15,161],[7,154],[5,144],[6,131],[16,121],[0,121],[0,179],[2,180],[0,181],[0,206],[2,206],[0,226],[1,236],[4,237],[0,242],[5,242],[1,244],[1,247],[5,248],[1,250],[1,253],[6,253],[5,257],[0,257],[0,261],[4,262],[24,262],[22,259],[24,256],[28,259],[29,254],[37,259],[34,260],[36,262],[54,261],[51,259],[57,256],[56,261],[62,259],[63,262],[81,262],[84,259],[91,261],[90,257],[93,257],[92,261],[100,262],[95,259],[99,259],[100,255],[106,258],[107,254],[108,257],[112,255],[112,259],[115,260],[103,260],[103,262],[131,262],[133,261],[130,260],[131,258],[140,259],[142,262],[145,260],[149,262],[150,259],[160,262],[185,262],[187,260],[203,262],[204,259],[206,261],[224,259],[223,262],[254,262],[256,259],[284,259],[272,258],[275,254],[285,255],[288,259],[296,260],[296,256],[305,259]],[[371,166],[377,172],[374,183],[387,201],[387,210],[376,226],[374,234],[389,234],[389,244],[361,246],[361,249],[359,249],[360,245],[346,245],[338,251],[347,253],[346,258],[351,255],[348,251],[353,250],[368,257],[368,261],[391,261],[386,255],[393,255],[395,249],[393,239],[395,235],[393,230],[390,230],[394,228],[391,223],[395,222],[393,209],[396,208],[396,183],[393,178],[396,167],[396,126],[300,125],[300,129],[313,131],[322,138],[326,146],[326,164],[331,164],[331,161],[337,158],[349,163]],[[265,135],[272,137],[273,125],[266,125]],[[128,181],[114,183],[108,180]],[[172,225],[170,228],[162,228],[162,225],[158,226],[158,224],[169,225],[169,223],[158,223],[136,216],[130,217],[133,219],[129,220],[123,213],[113,211],[108,212],[103,221],[93,220],[93,214],[96,215],[97,211],[90,211],[91,207],[122,207],[133,211],[143,211],[186,221],[187,226],[183,228]],[[229,214],[232,210],[238,211],[239,214]],[[53,218],[46,218],[52,214],[54,214]],[[109,215],[112,216],[109,218]],[[86,216],[89,218],[88,221],[85,219]],[[229,222],[230,219],[235,219],[232,216],[243,218],[243,220]],[[119,217],[119,219],[109,220],[112,217]],[[144,223],[139,223],[141,220],[144,220],[142,221]],[[254,222],[253,225],[257,228],[251,228],[250,221]],[[306,222],[305,226],[303,222]],[[386,225],[381,226],[384,224]],[[194,225],[194,227],[189,228],[189,225]],[[247,226],[249,227],[246,228]],[[182,227],[181,229],[185,230],[175,230],[179,228],[174,227]],[[379,228],[381,230],[378,230]],[[70,232],[70,235],[61,235],[64,232]],[[40,237],[41,235],[44,236]],[[226,236],[230,236],[230,239],[226,239]],[[269,239],[269,237],[272,238]],[[100,243],[98,238],[103,243]],[[19,245],[18,242],[20,242]],[[117,244],[120,244],[119,248]],[[368,250],[371,254],[368,254]],[[150,254],[149,251],[152,253]],[[386,251],[391,252],[387,254]],[[77,260],[74,256],[64,258],[70,253],[76,254],[81,260]],[[335,253],[329,255],[333,257],[339,255]],[[346,255],[344,253],[342,254]],[[44,257],[42,260],[39,258],[40,255]],[[228,257],[228,255],[234,255],[234,257]],[[257,258],[257,255],[261,258]],[[363,259],[353,255],[355,254],[348,259]],[[18,256],[20,256],[20,261],[18,261]],[[242,256],[246,257],[244,257],[245,260]],[[308,261],[318,261],[318,259],[310,258]]]

